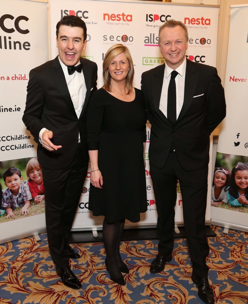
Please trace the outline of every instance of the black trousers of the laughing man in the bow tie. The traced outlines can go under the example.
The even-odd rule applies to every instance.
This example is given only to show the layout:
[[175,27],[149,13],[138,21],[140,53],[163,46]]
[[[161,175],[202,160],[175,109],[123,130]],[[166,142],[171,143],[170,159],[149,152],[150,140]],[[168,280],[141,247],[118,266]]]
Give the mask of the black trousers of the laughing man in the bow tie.
[[80,144],[70,168],[64,170],[42,168],[48,244],[52,260],[58,267],[69,266],[66,246],[87,169],[88,161],[83,161]]

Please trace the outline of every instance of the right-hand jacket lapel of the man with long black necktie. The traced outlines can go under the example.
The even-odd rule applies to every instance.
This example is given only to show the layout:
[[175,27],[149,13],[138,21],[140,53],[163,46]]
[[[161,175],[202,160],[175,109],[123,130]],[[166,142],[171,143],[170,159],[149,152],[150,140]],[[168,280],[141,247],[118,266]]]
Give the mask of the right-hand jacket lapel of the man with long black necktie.
[[186,63],[186,71],[185,71],[185,84],[184,84],[184,100],[181,112],[178,116],[177,123],[182,119],[187,110],[189,109],[194,93],[196,90],[196,85],[199,77],[199,70],[189,61],[188,59]]

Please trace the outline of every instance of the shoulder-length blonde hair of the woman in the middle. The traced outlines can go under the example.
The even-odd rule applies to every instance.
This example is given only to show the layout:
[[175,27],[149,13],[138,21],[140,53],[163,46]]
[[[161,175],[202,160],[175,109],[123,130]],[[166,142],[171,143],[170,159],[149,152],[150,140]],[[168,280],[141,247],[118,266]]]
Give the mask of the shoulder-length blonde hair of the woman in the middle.
[[111,61],[121,53],[124,53],[128,59],[129,71],[126,77],[125,89],[127,89],[127,94],[130,94],[133,88],[133,79],[134,79],[134,65],[133,60],[130,54],[130,51],[123,44],[115,44],[107,50],[107,53],[104,56],[102,64],[102,77],[103,77],[103,88],[107,91],[111,91],[111,76],[108,71],[108,67],[111,64]]

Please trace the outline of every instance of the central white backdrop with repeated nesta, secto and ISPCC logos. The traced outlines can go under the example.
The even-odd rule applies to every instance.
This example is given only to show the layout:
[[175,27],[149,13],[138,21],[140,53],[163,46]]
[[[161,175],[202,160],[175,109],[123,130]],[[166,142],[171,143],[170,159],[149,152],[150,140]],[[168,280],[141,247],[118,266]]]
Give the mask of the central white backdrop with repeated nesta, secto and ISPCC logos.
[[[188,27],[189,47],[186,55],[189,60],[212,66],[216,64],[217,7],[165,5],[161,2],[141,3],[140,1],[71,0],[68,2],[66,0],[51,0],[52,58],[58,55],[55,35],[56,24],[61,17],[66,15],[79,16],[86,23],[88,42],[83,56],[95,61],[98,65],[98,88],[102,86],[102,61],[104,54],[116,43],[122,43],[129,48],[135,67],[134,86],[140,88],[142,72],[164,63],[164,58],[160,54],[158,47],[158,31],[159,27],[167,19],[180,20]],[[149,171],[149,137],[150,125],[148,123],[146,140],[148,211],[141,215],[141,221],[138,224],[126,221],[126,226],[155,226],[157,222],[156,201]],[[211,168],[209,168],[209,171],[210,192]],[[130,172],[131,174],[132,172]],[[89,178],[90,173],[87,175],[81,202],[79,203],[74,220],[74,230],[92,229],[92,226],[101,225],[103,221],[103,217],[93,217],[92,213],[88,210]],[[210,220],[210,197],[208,201],[206,220]],[[178,197],[175,209],[175,222],[178,225],[183,223],[182,206],[180,185],[178,184]]]

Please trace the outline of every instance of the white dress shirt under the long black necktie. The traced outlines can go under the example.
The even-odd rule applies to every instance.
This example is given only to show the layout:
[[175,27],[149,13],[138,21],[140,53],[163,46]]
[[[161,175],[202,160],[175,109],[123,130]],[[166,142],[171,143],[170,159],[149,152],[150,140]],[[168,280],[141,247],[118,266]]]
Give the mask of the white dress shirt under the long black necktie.
[[[183,63],[175,69],[178,75],[175,78],[176,82],[176,109],[177,109],[177,119],[182,110],[183,100],[184,100],[184,84],[185,84],[185,70],[186,70],[186,57]],[[162,86],[162,92],[160,97],[159,109],[167,117],[167,96],[168,96],[168,86],[171,80],[171,72],[174,71],[165,63],[164,80]]]

